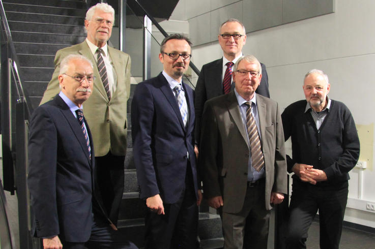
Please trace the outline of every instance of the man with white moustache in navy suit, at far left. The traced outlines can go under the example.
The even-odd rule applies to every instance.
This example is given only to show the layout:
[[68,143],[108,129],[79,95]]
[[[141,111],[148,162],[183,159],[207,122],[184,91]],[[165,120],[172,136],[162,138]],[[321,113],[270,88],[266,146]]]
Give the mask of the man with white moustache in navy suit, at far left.
[[96,194],[93,139],[82,113],[94,80],[89,59],[68,55],[60,93],[30,119],[28,187],[45,249],[137,248],[116,231]]

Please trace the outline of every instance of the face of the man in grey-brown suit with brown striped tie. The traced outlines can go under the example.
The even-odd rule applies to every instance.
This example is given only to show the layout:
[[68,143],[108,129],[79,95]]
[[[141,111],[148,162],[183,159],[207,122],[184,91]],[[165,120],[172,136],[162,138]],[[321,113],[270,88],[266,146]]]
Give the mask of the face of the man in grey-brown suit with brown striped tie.
[[[255,61],[249,62],[245,59],[240,61],[237,70],[259,72],[258,64],[256,64]],[[247,73],[244,76],[240,75],[238,72],[233,72],[232,74],[238,94],[246,101],[251,100],[256,88],[258,88],[259,83],[261,83],[262,74],[259,73],[256,76],[251,76],[250,73]]]

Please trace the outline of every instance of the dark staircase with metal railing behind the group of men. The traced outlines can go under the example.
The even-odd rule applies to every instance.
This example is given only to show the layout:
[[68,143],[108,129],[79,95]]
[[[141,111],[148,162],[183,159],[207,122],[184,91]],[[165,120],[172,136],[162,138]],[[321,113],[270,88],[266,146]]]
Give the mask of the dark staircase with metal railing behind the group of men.
[[[23,87],[33,108],[36,108],[51,79],[56,51],[80,43],[86,37],[83,26],[85,6],[82,1],[72,0],[3,0],[3,5],[20,63]],[[135,84],[132,84],[127,110],[128,124],[131,123],[130,105],[134,88]],[[129,240],[142,247],[146,208],[145,202],[138,198],[131,127],[128,132],[125,190],[118,226]],[[208,211],[207,205],[201,210]],[[200,212],[198,232],[201,248],[222,247],[221,221],[217,214]]]

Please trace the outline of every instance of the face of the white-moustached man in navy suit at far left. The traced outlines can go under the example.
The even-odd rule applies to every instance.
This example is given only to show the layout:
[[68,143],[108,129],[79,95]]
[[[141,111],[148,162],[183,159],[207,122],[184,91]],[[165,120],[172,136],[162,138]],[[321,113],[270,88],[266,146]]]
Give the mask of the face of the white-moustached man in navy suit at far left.
[[[59,75],[59,82],[62,92],[76,106],[81,107],[82,103],[89,99],[93,91],[93,82],[87,77],[93,76],[93,68],[88,61],[82,59],[71,59],[66,73]],[[72,77],[86,76],[82,82]]]

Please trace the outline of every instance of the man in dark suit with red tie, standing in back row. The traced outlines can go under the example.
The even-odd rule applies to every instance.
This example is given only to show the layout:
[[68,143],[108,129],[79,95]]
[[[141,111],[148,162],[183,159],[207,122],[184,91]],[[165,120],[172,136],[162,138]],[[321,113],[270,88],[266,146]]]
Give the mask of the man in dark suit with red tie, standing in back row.
[[[223,57],[210,63],[203,65],[200,70],[198,81],[195,87],[195,143],[196,149],[200,137],[201,116],[203,107],[207,100],[226,94],[230,88],[233,88],[232,75],[228,67],[228,63],[234,65],[236,61],[243,55],[242,47],[246,43],[246,30],[242,22],[237,19],[228,19],[223,22],[219,29],[219,44],[223,50]],[[256,89],[256,93],[270,98],[268,90],[268,75],[266,66],[261,63],[263,76],[261,84]],[[228,72],[226,72],[228,71]],[[228,81],[225,86],[224,81]],[[232,85],[232,87],[230,87]],[[227,88],[227,89],[225,89]]]

